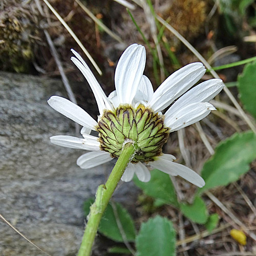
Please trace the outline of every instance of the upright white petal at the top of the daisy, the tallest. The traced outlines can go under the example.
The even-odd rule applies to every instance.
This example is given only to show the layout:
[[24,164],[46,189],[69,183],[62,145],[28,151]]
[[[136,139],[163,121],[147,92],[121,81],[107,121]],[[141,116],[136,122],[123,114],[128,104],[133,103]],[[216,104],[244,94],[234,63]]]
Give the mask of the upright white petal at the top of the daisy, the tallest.
[[121,55],[115,73],[115,86],[120,103],[132,103],[145,68],[146,51],[141,45],[129,46]]

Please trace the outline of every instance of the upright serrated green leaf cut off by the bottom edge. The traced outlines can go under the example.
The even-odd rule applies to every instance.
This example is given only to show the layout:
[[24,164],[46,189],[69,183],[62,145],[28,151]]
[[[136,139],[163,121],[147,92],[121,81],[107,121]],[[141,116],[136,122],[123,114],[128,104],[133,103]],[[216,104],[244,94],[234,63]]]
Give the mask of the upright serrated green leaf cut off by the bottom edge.
[[175,230],[173,223],[156,216],[142,223],[136,237],[137,256],[175,256]]

